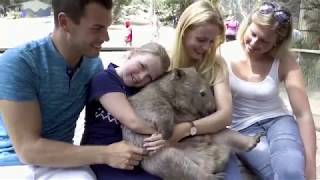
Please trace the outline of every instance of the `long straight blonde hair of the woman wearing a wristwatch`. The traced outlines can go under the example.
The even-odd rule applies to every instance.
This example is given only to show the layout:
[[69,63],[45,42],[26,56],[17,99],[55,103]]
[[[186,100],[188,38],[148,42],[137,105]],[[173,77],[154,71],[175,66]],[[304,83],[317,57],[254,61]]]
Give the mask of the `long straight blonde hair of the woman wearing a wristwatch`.
[[[194,64],[190,59],[186,58],[183,36],[186,32],[207,23],[217,26],[221,33],[215,38],[204,59],[199,64]],[[217,48],[224,40],[224,23],[218,8],[206,0],[194,2],[184,10],[179,19],[170,69],[194,66],[210,84],[216,83],[217,74],[222,73],[226,77],[227,72],[222,57],[216,55]]]

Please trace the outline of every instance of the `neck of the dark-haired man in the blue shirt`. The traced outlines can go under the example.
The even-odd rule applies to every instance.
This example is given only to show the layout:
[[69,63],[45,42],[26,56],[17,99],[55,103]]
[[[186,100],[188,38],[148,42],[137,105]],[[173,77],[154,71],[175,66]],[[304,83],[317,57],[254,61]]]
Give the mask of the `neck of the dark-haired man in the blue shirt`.
[[64,32],[55,29],[51,38],[55,48],[65,59],[69,67],[76,67],[79,65],[82,56],[81,54],[77,54],[78,51],[73,49],[70,43],[68,43]]

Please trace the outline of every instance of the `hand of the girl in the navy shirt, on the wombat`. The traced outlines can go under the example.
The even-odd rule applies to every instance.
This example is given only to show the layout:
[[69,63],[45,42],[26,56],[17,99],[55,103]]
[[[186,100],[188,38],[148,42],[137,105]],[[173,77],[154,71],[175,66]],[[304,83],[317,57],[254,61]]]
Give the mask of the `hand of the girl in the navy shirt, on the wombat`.
[[162,138],[159,133],[152,134],[150,137],[144,139],[143,147],[148,152],[156,152],[166,144],[166,140]]

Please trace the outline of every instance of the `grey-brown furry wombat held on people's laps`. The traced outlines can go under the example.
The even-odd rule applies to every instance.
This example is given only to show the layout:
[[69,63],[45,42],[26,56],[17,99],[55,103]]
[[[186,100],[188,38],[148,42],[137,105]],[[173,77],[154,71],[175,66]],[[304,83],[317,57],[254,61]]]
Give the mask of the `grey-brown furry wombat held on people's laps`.
[[[176,123],[192,121],[215,111],[214,95],[209,84],[194,68],[168,72],[129,98],[137,114],[169,139]],[[146,137],[122,128],[123,139],[142,147]],[[248,151],[259,136],[241,135],[223,130],[209,135],[190,136],[167,145],[141,162],[144,170],[162,179],[223,179],[223,169],[231,150]]]

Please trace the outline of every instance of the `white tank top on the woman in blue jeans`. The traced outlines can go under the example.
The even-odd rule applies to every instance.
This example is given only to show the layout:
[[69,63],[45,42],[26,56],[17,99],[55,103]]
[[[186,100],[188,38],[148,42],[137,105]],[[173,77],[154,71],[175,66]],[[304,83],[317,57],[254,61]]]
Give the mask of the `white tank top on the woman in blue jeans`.
[[250,125],[283,115],[292,115],[279,96],[279,60],[275,59],[266,78],[249,82],[237,77],[227,62],[232,92],[233,112],[231,128],[241,130]]

